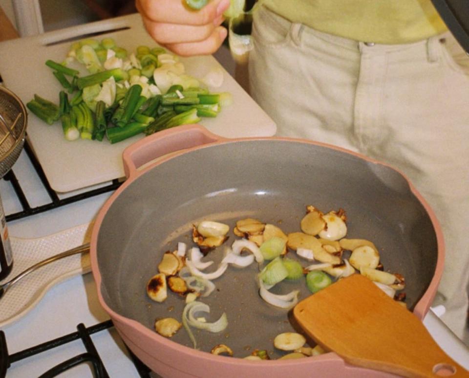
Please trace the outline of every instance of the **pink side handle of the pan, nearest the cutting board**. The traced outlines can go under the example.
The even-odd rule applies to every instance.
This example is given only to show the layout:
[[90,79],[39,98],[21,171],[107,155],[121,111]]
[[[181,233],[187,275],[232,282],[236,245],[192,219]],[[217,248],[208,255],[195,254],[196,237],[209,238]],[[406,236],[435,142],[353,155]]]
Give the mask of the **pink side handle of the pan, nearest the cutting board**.
[[172,152],[226,140],[200,125],[184,125],[149,135],[128,146],[123,154],[124,172],[133,177],[150,161]]

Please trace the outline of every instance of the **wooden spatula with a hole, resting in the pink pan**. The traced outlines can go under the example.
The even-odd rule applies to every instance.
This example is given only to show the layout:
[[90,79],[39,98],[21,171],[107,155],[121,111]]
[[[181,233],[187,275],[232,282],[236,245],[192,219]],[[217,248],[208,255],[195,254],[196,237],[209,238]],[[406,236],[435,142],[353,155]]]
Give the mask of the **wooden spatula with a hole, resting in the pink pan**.
[[352,365],[405,377],[469,377],[414,314],[360,274],[302,300],[293,314],[306,334]]

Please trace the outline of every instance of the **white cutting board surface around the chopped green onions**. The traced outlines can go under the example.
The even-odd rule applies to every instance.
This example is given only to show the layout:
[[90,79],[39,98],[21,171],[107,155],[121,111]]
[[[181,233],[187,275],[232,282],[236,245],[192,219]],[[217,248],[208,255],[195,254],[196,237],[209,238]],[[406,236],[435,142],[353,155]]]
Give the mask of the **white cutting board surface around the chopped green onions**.
[[[116,31],[116,29],[126,28]],[[139,14],[87,23],[80,26],[0,43],[0,74],[7,88],[26,104],[34,94],[58,104],[62,89],[45,66],[47,59],[62,62],[70,48],[70,39],[112,37],[116,44],[134,51],[139,45],[156,46],[143,27]],[[181,58],[187,73],[203,78],[214,66],[221,67],[213,56]],[[224,70],[223,85],[214,92],[227,91],[233,104],[222,109],[216,118],[202,118],[200,124],[224,137],[271,136],[276,132],[274,121]],[[57,192],[70,192],[124,177],[122,152],[131,143],[144,137],[137,135],[111,145],[94,140],[66,141],[60,122],[49,126],[29,114],[27,134],[51,187]]]

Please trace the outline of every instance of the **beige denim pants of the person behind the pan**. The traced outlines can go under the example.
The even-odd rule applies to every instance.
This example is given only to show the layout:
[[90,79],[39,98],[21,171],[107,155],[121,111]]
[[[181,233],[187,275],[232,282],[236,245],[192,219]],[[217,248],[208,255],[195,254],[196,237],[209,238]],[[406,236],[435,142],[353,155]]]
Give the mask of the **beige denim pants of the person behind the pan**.
[[[366,41],[365,41],[366,42]],[[449,34],[404,45],[354,42],[255,14],[251,95],[278,135],[319,140],[402,170],[442,225],[435,304],[469,345],[469,57]]]

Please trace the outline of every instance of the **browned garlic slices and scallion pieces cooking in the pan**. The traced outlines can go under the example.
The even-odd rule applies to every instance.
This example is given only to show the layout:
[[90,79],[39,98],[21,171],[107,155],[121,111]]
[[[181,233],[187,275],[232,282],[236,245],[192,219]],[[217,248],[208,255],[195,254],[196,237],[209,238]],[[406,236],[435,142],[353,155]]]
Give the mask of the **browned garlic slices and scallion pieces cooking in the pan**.
[[[260,271],[253,275],[253,280],[257,282],[259,295],[281,311],[288,311],[298,303],[300,291],[294,289],[287,294],[270,291],[277,284],[284,281],[296,282],[298,285],[306,285],[314,294],[333,284],[334,280],[357,272],[375,282],[380,289],[396,300],[405,299],[405,295],[395,296],[396,290],[405,288],[404,278],[399,274],[383,270],[380,254],[372,242],[363,239],[345,239],[346,221],[343,209],[323,214],[311,205],[306,206],[306,215],[299,224],[304,233],[294,232],[286,235],[280,227],[257,219],[239,220],[233,229],[235,235],[242,239],[236,239],[231,247],[225,245],[224,258],[210,273],[205,271],[214,264],[214,261],[209,259],[214,254],[220,253],[217,249],[228,240],[230,226],[222,222],[199,222],[192,227],[192,241],[197,246],[188,250],[185,243],[179,242],[175,251],[164,253],[157,266],[158,274],[147,283],[147,294],[153,301],[163,303],[168,297],[167,288],[170,288],[175,295],[181,297],[181,300],[185,299],[186,305],[180,316],[194,348],[197,348],[197,337],[192,329],[216,334],[224,331],[229,324],[232,316],[230,313],[223,312],[214,322],[202,316],[210,314],[210,306],[199,299],[209,296],[216,288],[216,282],[212,281],[223,274],[235,274],[233,269],[229,269],[229,265],[241,269],[249,267],[256,260]],[[256,237],[257,244],[249,240],[253,237]],[[285,256],[288,254],[287,244],[291,250],[296,248],[297,258]],[[308,246],[312,249],[308,249]],[[203,248],[203,252],[200,248]],[[344,258],[345,249],[351,251],[349,259]],[[304,261],[322,263],[303,267],[301,263]],[[337,261],[339,263],[334,264]],[[232,300],[239,301],[240,298]],[[155,330],[165,337],[172,337],[178,332],[179,324],[179,321],[173,318],[157,319]],[[204,336],[199,333],[198,337]],[[220,342],[222,340],[223,337],[220,336]],[[305,344],[305,337],[293,332],[278,334],[274,339],[275,348],[293,352],[280,358],[311,356],[310,347],[302,349]],[[221,343],[213,347],[211,353],[240,357],[229,346]]]

